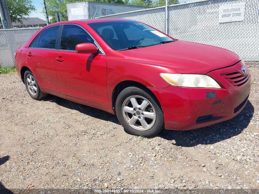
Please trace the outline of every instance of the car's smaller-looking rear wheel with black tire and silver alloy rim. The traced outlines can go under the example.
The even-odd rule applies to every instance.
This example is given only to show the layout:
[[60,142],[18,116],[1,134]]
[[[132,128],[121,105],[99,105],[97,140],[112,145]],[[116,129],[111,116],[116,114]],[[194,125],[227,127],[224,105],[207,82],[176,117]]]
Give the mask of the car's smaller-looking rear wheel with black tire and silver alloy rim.
[[[27,78],[30,81],[27,80]],[[25,73],[24,73],[24,83],[25,83],[27,92],[33,99],[40,100],[42,98],[45,98],[48,95],[47,93],[43,93],[40,90],[40,87],[39,87],[39,84],[38,84],[36,78],[34,77],[32,72],[29,70],[25,71]],[[35,90],[35,88],[36,88],[36,90]]]

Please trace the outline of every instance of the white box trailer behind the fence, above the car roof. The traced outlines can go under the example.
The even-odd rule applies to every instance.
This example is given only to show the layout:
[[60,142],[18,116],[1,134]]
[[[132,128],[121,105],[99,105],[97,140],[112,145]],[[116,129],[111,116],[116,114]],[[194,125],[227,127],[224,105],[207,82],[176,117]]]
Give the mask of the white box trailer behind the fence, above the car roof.
[[143,10],[148,7],[124,5],[118,3],[102,3],[93,1],[81,1],[67,3],[68,20],[83,20],[96,17],[123,13],[128,11]]

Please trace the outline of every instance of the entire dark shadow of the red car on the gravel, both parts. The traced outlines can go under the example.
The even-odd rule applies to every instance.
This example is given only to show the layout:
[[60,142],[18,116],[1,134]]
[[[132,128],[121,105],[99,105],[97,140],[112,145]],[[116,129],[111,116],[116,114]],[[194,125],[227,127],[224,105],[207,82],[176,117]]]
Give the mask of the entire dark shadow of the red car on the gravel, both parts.
[[[81,105],[50,94],[43,100],[54,102],[60,106],[77,110],[98,119],[120,124],[116,115],[97,108]],[[240,134],[250,123],[253,113],[253,105],[248,101],[242,112],[228,121],[189,131],[163,130],[158,136],[167,140],[175,140],[174,145],[182,147],[192,147],[198,144],[214,144]],[[127,131],[125,132],[128,133]]]

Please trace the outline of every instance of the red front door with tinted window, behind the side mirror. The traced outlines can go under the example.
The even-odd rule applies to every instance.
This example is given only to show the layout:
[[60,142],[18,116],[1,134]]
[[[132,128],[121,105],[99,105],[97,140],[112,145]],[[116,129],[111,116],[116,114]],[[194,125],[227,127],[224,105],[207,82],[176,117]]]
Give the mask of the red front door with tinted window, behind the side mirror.
[[[78,54],[75,46],[92,43],[92,36],[81,26],[64,24],[55,64],[61,93],[108,107],[106,55]],[[101,49],[100,49],[101,50]]]

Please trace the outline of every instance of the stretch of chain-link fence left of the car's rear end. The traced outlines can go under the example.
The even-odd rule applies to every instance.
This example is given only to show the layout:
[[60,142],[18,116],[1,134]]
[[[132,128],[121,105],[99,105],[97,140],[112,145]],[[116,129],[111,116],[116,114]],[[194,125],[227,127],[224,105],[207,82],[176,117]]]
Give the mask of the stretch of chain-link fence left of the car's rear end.
[[0,67],[14,67],[14,52],[39,28],[0,30]]

